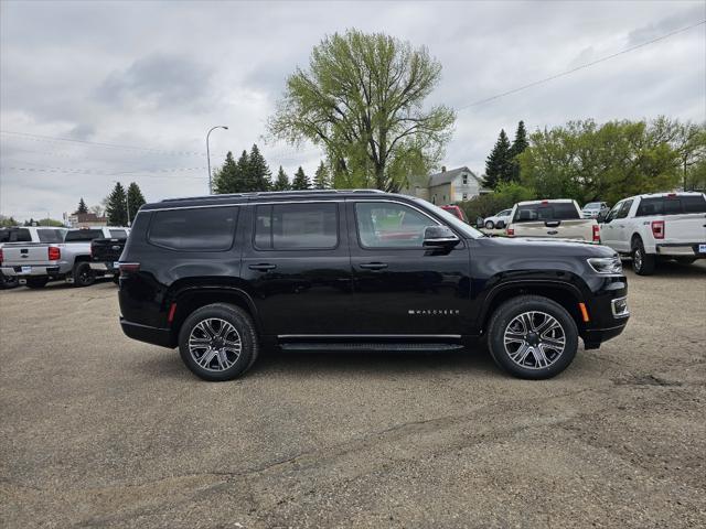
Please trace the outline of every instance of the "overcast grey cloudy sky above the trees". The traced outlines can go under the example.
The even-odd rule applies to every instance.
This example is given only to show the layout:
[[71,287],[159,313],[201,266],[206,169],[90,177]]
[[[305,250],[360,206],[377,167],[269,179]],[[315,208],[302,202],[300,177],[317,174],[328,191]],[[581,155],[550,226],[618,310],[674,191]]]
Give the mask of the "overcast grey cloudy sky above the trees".
[[[60,218],[115,182],[149,202],[207,193],[212,164],[257,143],[272,173],[322,158],[266,138],[288,75],[355,28],[426,46],[428,105],[458,110],[442,164],[483,173],[501,128],[706,120],[706,1],[148,2],[0,0],[0,214]],[[66,141],[71,140],[71,141]]]

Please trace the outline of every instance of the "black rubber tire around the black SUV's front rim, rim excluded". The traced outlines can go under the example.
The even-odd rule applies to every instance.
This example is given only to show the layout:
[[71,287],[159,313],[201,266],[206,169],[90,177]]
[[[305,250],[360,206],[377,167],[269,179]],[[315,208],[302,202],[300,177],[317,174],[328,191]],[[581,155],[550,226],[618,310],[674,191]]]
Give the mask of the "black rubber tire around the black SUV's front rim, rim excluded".
[[[566,337],[566,346],[561,356],[550,366],[542,369],[530,369],[515,364],[504,345],[504,333],[510,322],[523,312],[545,312],[561,325]],[[488,345],[493,360],[505,371],[518,378],[546,379],[564,371],[576,357],[578,350],[578,330],[570,314],[558,303],[539,296],[523,296],[510,300],[493,314],[489,325]]]

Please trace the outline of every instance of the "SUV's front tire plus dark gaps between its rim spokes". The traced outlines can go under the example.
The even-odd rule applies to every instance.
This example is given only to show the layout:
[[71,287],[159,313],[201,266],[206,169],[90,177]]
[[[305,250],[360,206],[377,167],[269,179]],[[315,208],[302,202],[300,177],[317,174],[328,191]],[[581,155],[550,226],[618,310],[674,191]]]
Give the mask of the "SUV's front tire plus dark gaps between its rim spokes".
[[[535,334],[531,337],[532,342],[522,342],[522,344],[517,345],[517,349],[515,352],[510,352],[509,348],[512,348],[513,345],[509,345],[507,347],[505,346],[505,331],[514,328],[511,327],[511,325],[516,322],[516,319],[521,319],[523,314],[534,314],[536,320],[533,320],[533,324],[536,321],[539,328],[542,328],[543,322],[550,322],[550,320],[543,317],[543,315],[548,315],[550,319],[554,319],[554,322],[560,328],[553,325],[552,328],[554,331],[547,331],[553,334],[552,337],[545,337],[547,332],[542,335]],[[535,339],[544,338],[547,341],[556,341],[557,338],[554,336],[558,336],[559,333],[561,333],[564,337],[563,350],[557,352],[555,349],[545,348],[535,349],[532,347],[532,345],[535,345]],[[545,344],[546,347],[546,343],[544,341],[539,343]],[[525,347],[525,352],[527,352],[527,349],[532,349],[532,357],[530,356],[530,353],[526,354],[525,365],[516,363],[511,357],[511,353],[516,353],[521,347]],[[501,369],[517,378],[542,380],[555,377],[571,364],[576,356],[576,352],[578,350],[578,330],[571,315],[566,311],[566,309],[555,301],[541,295],[518,295],[517,298],[513,298],[504,302],[495,310],[495,312],[493,312],[488,325],[488,348],[493,360]],[[542,366],[538,364],[539,360],[537,360],[537,356],[539,355],[539,352],[545,350],[548,350],[548,354],[544,356],[550,361],[547,361],[548,365]],[[528,365],[533,361],[535,365]]]

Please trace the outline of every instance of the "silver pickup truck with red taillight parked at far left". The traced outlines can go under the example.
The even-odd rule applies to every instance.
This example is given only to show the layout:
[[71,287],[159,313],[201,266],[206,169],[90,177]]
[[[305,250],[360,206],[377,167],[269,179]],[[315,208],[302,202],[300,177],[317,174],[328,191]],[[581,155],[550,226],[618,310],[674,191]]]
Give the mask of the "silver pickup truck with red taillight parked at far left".
[[3,246],[0,271],[17,277],[31,289],[50,280],[66,280],[74,287],[93,284],[100,271],[90,268],[90,241],[127,237],[128,228],[96,227],[69,229],[63,242],[10,242]]

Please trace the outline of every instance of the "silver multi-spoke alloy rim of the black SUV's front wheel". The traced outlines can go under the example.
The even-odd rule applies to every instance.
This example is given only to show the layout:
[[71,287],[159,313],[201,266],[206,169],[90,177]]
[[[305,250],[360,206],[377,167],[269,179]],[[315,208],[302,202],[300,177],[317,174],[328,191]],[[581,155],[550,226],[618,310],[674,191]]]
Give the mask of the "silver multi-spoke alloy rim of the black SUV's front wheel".
[[503,342],[507,356],[520,367],[545,369],[564,353],[566,333],[556,317],[546,312],[531,311],[511,320]]

